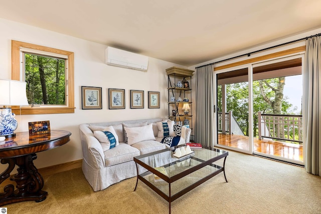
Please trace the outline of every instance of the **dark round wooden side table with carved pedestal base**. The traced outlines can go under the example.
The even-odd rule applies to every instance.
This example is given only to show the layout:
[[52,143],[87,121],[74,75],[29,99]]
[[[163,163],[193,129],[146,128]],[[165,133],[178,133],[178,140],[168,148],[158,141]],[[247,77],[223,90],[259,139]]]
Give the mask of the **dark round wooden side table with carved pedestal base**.
[[[48,192],[43,191],[44,179],[33,161],[37,152],[53,149],[70,141],[71,133],[64,130],[51,130],[49,133],[29,135],[29,132],[17,132],[16,137],[0,142],[0,159],[8,168],[0,175],[0,184],[10,177],[17,183],[4,187],[0,192],[0,206],[26,200],[40,202],[46,199]],[[11,175],[15,166],[18,173]]]

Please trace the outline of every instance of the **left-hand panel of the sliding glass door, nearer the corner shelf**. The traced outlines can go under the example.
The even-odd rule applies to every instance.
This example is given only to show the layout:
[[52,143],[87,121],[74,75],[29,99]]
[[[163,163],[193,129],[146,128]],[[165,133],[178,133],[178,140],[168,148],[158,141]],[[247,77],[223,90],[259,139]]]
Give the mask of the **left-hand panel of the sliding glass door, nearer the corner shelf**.
[[250,67],[239,67],[215,75],[217,144],[245,153],[252,153],[249,71]]

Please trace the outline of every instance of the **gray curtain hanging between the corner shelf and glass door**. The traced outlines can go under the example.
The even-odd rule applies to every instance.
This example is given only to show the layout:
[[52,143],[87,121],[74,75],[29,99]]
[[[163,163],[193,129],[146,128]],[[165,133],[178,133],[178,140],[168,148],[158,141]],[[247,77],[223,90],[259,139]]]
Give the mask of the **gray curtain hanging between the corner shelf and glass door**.
[[214,66],[208,65],[196,69],[196,119],[195,142],[204,147],[214,147]]

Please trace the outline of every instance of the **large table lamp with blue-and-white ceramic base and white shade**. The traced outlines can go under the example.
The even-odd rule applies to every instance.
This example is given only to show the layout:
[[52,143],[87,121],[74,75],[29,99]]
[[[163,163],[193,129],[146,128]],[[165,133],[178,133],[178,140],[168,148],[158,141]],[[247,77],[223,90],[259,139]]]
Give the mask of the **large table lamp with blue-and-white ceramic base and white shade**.
[[29,105],[26,93],[26,82],[0,79],[0,136],[14,137],[18,127],[15,114],[8,106]]

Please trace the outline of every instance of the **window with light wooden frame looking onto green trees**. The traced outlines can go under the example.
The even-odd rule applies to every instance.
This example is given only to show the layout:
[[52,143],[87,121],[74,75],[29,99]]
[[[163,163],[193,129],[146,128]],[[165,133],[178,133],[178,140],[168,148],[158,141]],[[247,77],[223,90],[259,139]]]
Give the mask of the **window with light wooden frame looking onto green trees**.
[[13,40],[12,79],[27,82],[29,106],[16,114],[74,113],[73,52]]

